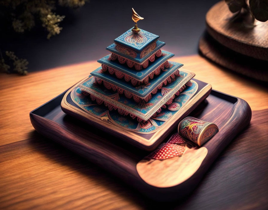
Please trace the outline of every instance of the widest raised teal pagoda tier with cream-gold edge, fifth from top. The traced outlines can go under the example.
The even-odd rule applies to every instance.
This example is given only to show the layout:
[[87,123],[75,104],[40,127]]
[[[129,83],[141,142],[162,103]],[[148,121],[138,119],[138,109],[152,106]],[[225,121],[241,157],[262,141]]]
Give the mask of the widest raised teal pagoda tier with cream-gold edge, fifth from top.
[[[78,87],[97,98],[100,103],[104,101],[104,103],[115,107],[118,111],[120,109],[123,113],[126,112],[141,120],[147,121],[161,109],[164,104],[170,100],[172,101],[175,94],[182,89],[194,75],[195,74],[192,72],[181,71],[179,77],[176,77],[171,84],[160,89],[146,103],[137,103],[124,95],[119,95],[118,92],[114,92],[102,85],[96,84],[92,76],[89,76],[88,79],[80,83]],[[144,87],[144,89],[145,88],[146,87]]]

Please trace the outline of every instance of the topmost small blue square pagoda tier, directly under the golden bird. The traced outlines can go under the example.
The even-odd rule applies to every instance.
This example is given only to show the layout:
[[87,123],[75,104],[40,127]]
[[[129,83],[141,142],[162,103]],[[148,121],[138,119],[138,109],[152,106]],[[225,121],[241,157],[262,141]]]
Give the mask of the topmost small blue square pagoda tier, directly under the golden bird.
[[135,52],[141,52],[158,38],[158,35],[142,29],[140,29],[138,33],[134,33],[131,28],[121,36],[117,37],[114,41],[115,43],[134,50]]

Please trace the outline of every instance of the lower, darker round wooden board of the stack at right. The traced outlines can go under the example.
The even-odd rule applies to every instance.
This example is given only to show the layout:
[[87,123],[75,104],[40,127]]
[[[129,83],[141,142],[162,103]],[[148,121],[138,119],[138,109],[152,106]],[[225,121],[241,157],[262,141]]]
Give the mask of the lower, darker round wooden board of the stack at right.
[[268,82],[268,61],[237,53],[218,43],[208,33],[199,40],[199,50],[206,58],[239,74]]

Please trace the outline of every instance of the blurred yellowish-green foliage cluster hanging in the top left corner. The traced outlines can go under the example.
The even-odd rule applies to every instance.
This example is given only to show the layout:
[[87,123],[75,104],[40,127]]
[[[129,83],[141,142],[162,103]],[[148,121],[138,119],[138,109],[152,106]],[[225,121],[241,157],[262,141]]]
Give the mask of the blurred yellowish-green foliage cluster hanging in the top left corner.
[[13,29],[18,33],[31,30],[37,20],[48,31],[47,38],[60,33],[59,23],[65,16],[57,15],[56,6],[81,7],[87,0],[1,0],[1,16],[9,17]]

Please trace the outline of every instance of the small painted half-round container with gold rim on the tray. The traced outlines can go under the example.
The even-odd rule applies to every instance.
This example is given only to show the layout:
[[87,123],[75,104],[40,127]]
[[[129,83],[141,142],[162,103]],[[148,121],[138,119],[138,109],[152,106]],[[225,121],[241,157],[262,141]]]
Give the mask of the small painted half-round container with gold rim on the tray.
[[178,125],[179,134],[199,146],[210,140],[218,131],[219,128],[214,123],[193,117],[184,118]]

